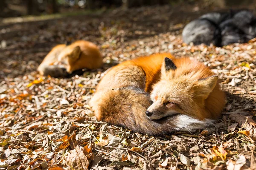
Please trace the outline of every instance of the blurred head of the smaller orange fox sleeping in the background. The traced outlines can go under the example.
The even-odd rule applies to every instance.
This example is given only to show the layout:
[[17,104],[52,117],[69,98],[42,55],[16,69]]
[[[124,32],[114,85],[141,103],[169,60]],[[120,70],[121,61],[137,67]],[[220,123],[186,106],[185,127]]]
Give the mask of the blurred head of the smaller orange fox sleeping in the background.
[[74,70],[71,67],[79,59],[81,54],[81,48],[76,46],[75,48],[66,48],[58,55],[58,61],[56,65],[66,68],[67,73],[71,74]]

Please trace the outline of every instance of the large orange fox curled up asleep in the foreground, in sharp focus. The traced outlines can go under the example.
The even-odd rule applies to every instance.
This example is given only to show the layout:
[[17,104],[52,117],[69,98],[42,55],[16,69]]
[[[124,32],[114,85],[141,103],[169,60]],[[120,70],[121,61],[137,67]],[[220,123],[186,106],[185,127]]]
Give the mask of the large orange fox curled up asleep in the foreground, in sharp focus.
[[138,57],[113,67],[90,100],[96,119],[163,135],[212,125],[225,105],[218,76],[195,59]]

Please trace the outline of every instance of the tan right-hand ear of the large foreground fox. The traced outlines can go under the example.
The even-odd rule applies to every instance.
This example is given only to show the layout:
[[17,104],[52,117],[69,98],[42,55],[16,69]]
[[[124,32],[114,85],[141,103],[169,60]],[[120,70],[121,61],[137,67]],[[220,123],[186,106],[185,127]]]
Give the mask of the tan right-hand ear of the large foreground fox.
[[218,82],[218,76],[210,76],[205,79],[199,79],[198,85],[197,85],[197,94],[198,96],[203,97],[206,99],[209,94],[212,92],[212,90],[215,88],[216,84]]

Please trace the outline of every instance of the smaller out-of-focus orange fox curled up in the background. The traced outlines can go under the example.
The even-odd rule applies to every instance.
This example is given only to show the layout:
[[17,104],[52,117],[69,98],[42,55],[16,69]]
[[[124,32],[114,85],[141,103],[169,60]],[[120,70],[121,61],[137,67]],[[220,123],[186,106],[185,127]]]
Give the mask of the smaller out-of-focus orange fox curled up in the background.
[[71,45],[56,45],[39,65],[42,75],[53,77],[66,76],[73,71],[102,66],[102,56],[98,47],[92,42],[79,40]]

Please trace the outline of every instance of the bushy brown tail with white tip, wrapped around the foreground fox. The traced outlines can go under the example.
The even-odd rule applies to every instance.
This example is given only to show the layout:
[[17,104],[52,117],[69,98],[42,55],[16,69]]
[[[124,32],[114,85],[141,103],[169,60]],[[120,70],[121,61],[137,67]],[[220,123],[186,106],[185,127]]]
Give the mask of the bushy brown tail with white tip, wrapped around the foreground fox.
[[149,94],[140,88],[125,87],[96,92],[89,103],[97,120],[123,126],[148,135],[163,135],[175,130],[190,131],[211,123],[186,115],[176,115],[152,121],[145,115],[151,105]]

